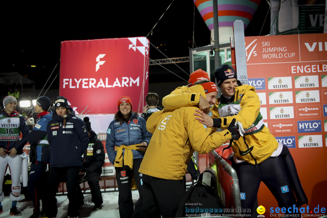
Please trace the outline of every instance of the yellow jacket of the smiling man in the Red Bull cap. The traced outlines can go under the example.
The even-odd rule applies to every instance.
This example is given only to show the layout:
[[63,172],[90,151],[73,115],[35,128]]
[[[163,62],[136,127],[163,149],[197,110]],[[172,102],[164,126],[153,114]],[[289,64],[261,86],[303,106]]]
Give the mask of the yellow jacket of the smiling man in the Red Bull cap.
[[[188,101],[194,90],[192,87],[179,87],[163,98],[163,109],[181,107],[186,102],[188,105],[196,105],[199,100]],[[199,98],[198,98],[199,99]],[[173,103],[177,103],[173,105]],[[264,161],[276,150],[278,142],[264,126],[260,115],[260,100],[253,86],[242,85],[235,88],[234,102],[222,104],[220,98],[211,108],[212,117],[221,119],[221,128],[228,127],[233,118],[242,123],[246,130],[244,137],[234,141],[232,149],[239,159],[251,164]]]

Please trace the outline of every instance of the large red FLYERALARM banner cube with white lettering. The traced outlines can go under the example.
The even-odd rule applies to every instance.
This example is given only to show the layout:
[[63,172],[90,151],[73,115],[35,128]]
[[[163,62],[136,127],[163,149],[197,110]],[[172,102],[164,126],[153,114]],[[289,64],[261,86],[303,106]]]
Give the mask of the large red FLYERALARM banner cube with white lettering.
[[76,114],[116,113],[121,96],[142,111],[148,92],[146,37],[61,42],[60,95]]

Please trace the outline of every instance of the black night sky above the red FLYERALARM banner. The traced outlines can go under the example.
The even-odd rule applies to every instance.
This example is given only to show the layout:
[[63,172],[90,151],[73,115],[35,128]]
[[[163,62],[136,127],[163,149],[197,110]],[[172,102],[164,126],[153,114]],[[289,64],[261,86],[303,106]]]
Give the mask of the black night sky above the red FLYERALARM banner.
[[[108,1],[72,5],[63,1],[4,7],[2,73],[18,72],[36,81],[36,88],[42,88],[60,59],[61,41],[146,36],[171,2]],[[245,30],[246,36],[259,35],[268,9],[267,1],[263,0]],[[210,44],[210,31],[192,0],[173,1],[147,38],[169,58],[189,56],[189,48],[193,46],[193,19],[194,47]],[[260,35],[269,33],[269,24],[268,14]],[[165,57],[150,45],[150,59],[162,58]],[[54,75],[58,72],[59,66]],[[51,88],[59,88],[59,80]]]

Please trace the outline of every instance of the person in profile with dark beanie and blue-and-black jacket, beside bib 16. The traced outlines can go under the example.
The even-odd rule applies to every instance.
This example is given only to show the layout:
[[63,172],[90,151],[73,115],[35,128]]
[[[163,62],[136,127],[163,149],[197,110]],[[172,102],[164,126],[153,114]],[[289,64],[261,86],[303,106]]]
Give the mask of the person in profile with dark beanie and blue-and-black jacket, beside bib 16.
[[[29,218],[37,218],[40,214],[41,216],[45,214],[45,210],[40,212],[40,200],[44,205],[43,193],[48,178],[47,166],[50,163],[50,145],[46,136],[46,126],[52,119],[52,111],[47,112],[49,107],[50,99],[48,97],[42,96],[36,100],[34,108],[38,119],[35,127],[26,136],[26,141],[31,145],[29,151],[31,170],[28,178],[28,191],[31,193],[34,207],[33,214]],[[29,119],[27,120],[29,121]]]

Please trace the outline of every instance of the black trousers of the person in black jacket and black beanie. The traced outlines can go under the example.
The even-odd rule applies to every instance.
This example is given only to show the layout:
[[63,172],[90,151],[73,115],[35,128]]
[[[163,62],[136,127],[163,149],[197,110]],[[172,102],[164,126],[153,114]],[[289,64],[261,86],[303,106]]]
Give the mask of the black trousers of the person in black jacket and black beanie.
[[[103,203],[102,200],[102,195],[100,191],[100,185],[99,185],[99,177],[100,173],[98,172],[93,172],[88,175],[87,183],[89,184],[90,190],[91,190],[91,195],[92,195],[92,202],[95,205],[100,205]],[[80,202],[82,199],[84,199],[82,190],[79,186],[77,185],[77,196],[78,196],[78,201]]]

